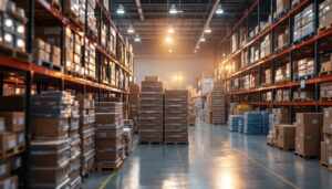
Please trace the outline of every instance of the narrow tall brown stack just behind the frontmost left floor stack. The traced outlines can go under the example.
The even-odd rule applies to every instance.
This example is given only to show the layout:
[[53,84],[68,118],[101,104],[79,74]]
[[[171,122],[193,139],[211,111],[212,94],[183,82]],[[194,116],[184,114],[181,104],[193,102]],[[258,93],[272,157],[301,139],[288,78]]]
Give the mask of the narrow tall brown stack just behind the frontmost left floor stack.
[[80,104],[81,176],[82,178],[86,178],[94,168],[94,101],[91,95],[76,95],[75,101],[79,101]]

